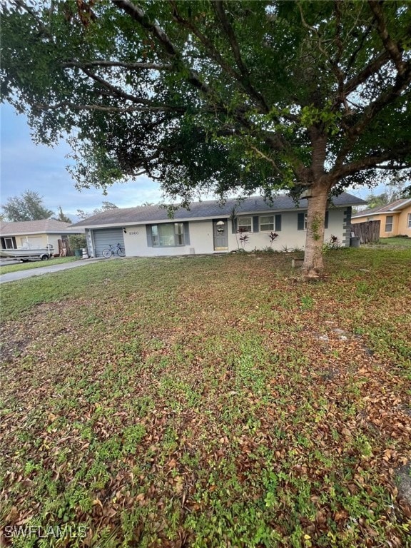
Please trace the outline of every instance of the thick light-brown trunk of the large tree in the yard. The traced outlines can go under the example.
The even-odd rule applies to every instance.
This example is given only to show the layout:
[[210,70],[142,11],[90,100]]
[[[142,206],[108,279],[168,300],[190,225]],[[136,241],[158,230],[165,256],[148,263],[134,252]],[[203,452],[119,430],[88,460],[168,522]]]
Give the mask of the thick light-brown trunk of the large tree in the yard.
[[319,278],[324,269],[324,222],[329,190],[330,186],[320,181],[315,181],[310,187],[303,263],[303,276],[310,280]]

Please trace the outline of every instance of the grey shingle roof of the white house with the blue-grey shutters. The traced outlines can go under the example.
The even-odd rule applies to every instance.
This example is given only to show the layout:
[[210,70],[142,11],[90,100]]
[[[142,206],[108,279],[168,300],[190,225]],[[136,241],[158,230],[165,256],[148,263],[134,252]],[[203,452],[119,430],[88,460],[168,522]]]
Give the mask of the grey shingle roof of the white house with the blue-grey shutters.
[[[352,196],[346,192],[333,198],[333,205],[341,208],[348,205],[358,205],[365,203],[361,198]],[[179,207],[174,211],[174,220],[201,220],[206,218],[229,217],[235,207],[235,213],[238,215],[247,215],[255,213],[267,213],[268,211],[307,209],[307,199],[301,199],[296,206],[293,198],[287,195],[280,195],[274,198],[270,203],[261,196],[250,196],[238,201],[238,198],[229,198],[224,203],[218,200],[208,200],[203,202],[193,202],[190,209]],[[103,211],[81,220],[73,225],[77,227],[101,227],[105,225],[131,225],[140,223],[158,223],[170,220],[168,210],[161,205],[147,205],[136,208],[116,208]]]

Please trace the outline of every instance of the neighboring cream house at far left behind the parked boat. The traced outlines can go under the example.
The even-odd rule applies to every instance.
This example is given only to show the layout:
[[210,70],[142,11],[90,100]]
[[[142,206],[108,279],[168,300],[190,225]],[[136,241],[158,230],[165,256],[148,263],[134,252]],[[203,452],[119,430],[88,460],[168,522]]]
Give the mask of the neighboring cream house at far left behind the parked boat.
[[72,230],[71,223],[60,220],[22,220],[18,223],[0,223],[1,249],[31,248],[42,249],[48,245],[54,253],[59,252],[59,240],[66,240],[68,235],[83,233],[84,230]]

